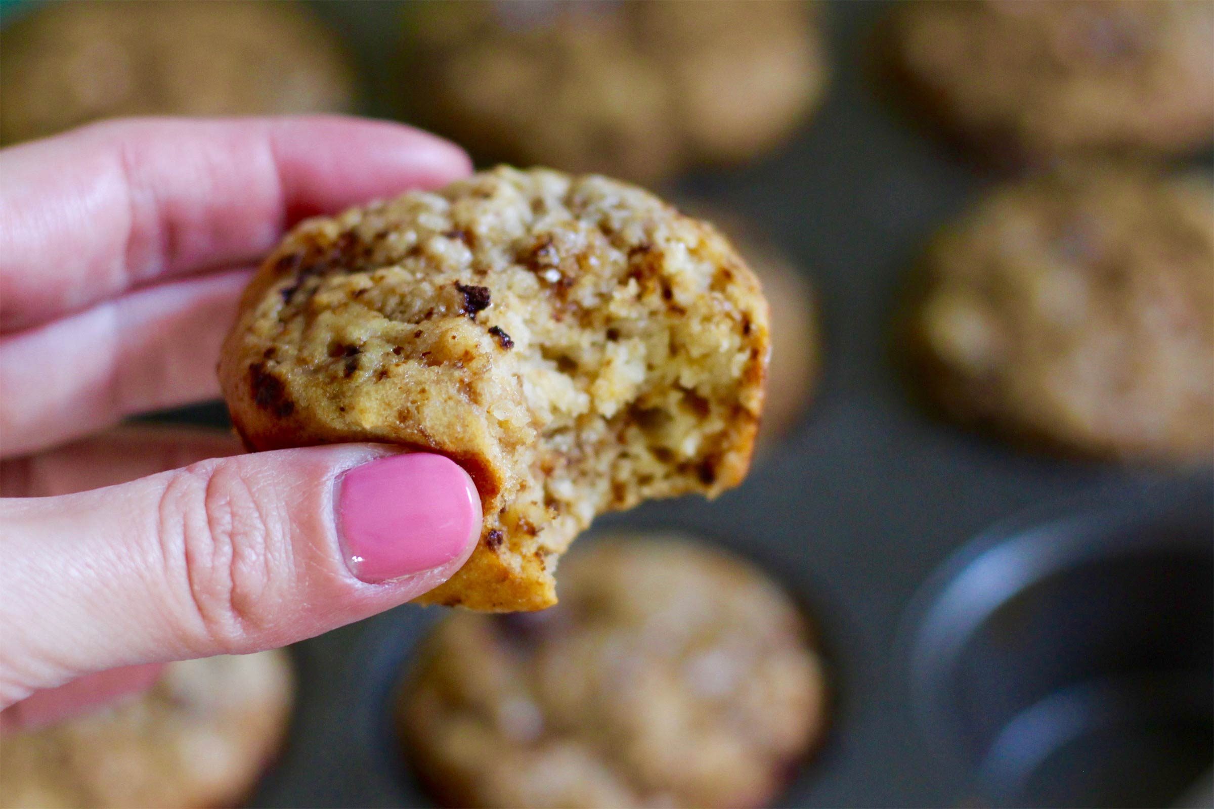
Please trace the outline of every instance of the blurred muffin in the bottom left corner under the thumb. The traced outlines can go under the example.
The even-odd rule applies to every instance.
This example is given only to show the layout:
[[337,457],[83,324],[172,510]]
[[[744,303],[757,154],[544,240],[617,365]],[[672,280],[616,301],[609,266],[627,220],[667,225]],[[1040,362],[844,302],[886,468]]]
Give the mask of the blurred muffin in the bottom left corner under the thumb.
[[0,742],[0,807],[234,807],[282,745],[287,654],[170,663],[149,691]]

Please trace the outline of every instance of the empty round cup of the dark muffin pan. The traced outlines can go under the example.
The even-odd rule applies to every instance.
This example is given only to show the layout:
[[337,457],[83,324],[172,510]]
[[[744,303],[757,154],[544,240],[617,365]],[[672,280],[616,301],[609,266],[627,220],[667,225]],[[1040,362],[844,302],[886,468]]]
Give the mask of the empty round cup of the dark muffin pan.
[[975,540],[912,608],[923,736],[995,805],[1170,804],[1214,757],[1214,505],[1051,511]]

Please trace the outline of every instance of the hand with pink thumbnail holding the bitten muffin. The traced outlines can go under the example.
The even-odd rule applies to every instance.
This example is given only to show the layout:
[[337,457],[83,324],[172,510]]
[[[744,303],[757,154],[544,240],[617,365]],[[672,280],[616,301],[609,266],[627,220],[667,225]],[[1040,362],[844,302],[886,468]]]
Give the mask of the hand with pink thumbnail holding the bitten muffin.
[[437,455],[66,441],[215,397],[248,267],[294,221],[467,171],[444,141],[342,118],[118,121],[0,152],[0,708],[36,693],[0,724],[144,684],[149,663],[319,634],[459,569],[480,501]]

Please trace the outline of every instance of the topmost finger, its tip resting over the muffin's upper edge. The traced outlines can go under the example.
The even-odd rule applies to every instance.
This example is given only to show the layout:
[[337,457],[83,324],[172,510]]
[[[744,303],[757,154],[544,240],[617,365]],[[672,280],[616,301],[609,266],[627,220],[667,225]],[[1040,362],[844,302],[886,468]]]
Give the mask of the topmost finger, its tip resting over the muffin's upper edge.
[[250,263],[287,224],[467,173],[455,146],[341,116],[132,119],[0,152],[0,329]]

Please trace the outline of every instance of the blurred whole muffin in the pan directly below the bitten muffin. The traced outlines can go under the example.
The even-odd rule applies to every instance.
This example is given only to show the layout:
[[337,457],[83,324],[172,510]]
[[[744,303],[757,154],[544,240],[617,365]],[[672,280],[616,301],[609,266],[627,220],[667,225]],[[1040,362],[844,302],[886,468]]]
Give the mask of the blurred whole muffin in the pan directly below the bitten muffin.
[[659,536],[573,553],[552,610],[448,616],[397,718],[450,807],[758,807],[823,735],[824,691],[771,580]]

